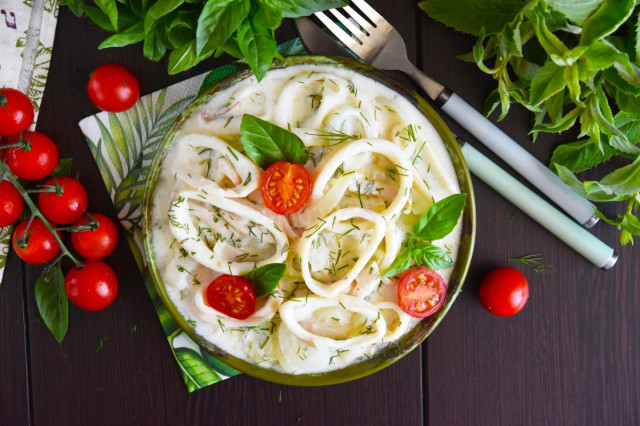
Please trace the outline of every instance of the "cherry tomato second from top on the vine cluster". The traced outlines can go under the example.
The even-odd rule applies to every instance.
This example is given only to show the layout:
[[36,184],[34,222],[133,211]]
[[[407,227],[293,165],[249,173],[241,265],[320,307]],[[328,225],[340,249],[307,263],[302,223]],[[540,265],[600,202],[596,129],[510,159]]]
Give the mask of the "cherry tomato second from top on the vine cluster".
[[[25,132],[22,138],[27,143],[24,147],[9,148],[7,165],[16,176],[26,180],[38,180],[47,177],[58,165],[58,147],[45,134]],[[14,144],[20,138],[9,139]]]

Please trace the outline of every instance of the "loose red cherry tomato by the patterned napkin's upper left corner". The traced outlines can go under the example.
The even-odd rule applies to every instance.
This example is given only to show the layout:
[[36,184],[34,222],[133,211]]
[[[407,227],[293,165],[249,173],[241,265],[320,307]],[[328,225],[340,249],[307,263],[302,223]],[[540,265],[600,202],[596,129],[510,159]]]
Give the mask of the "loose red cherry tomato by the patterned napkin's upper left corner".
[[138,101],[140,85],[131,71],[122,65],[103,64],[91,74],[87,93],[91,102],[98,108],[109,112],[122,112]]

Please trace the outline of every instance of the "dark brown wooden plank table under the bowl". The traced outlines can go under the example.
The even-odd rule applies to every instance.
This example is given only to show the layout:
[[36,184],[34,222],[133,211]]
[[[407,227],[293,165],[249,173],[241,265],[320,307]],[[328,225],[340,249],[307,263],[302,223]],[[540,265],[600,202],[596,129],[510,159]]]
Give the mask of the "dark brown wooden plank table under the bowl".
[[[470,51],[472,38],[432,21],[415,1],[371,4],[400,30],[410,56],[424,70],[472,105],[482,105],[493,81],[456,59]],[[293,37],[292,28],[287,23],[279,39]],[[57,141],[63,156],[73,157],[74,173],[91,194],[91,211],[114,217],[77,126],[97,112],[85,94],[89,73],[101,63],[118,62],[139,76],[143,93],[150,93],[231,59],[209,60],[169,76],[166,61],[143,59],[141,45],[97,50],[104,38],[61,10],[38,130]],[[529,120],[515,107],[500,127],[546,162],[562,138],[543,136],[532,144]],[[108,258],[119,276],[121,297],[98,313],[71,307],[69,332],[58,344],[36,310],[33,286],[39,269],[25,267],[11,254],[0,288],[0,423],[640,424],[638,247],[621,248],[615,229],[596,225],[593,233],[620,255],[613,270],[600,271],[483,183],[474,184],[476,249],[465,288],[449,314],[403,360],[337,386],[298,388],[238,376],[189,394],[124,238]],[[613,208],[604,206],[604,211],[613,215]],[[540,253],[553,272],[536,274],[509,261],[527,253]],[[531,286],[527,306],[511,318],[490,315],[477,297],[482,277],[503,265],[520,269]]]

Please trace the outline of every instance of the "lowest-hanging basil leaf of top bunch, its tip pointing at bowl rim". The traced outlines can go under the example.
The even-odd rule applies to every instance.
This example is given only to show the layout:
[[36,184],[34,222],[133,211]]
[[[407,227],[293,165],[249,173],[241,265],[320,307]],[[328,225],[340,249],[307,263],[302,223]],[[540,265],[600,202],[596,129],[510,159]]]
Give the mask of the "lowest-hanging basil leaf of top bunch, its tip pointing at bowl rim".
[[242,57],[260,81],[271,66],[277,46],[273,30],[255,22],[254,18],[240,25],[236,40]]

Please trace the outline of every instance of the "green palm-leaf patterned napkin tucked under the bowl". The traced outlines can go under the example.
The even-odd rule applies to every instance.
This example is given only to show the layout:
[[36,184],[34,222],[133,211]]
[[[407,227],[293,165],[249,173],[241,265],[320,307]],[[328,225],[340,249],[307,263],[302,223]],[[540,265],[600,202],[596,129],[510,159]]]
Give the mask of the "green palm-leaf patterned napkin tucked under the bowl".
[[[305,53],[299,39],[281,44],[278,51],[284,56]],[[246,67],[237,62],[225,65],[143,96],[128,111],[117,114],[101,112],[79,123],[190,392],[235,376],[238,372],[193,342],[162,304],[144,256],[140,205],[156,149],[176,116],[198,93],[243,68]]]

